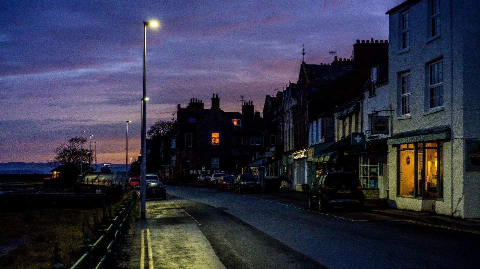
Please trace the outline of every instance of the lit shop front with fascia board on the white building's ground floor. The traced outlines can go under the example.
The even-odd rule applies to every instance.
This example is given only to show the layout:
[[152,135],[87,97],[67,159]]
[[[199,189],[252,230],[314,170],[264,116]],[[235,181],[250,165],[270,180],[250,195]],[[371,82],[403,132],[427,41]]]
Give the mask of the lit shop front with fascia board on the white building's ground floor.
[[[390,182],[390,199],[398,208],[435,210],[436,202],[443,201],[444,144],[450,141],[449,128],[425,133],[397,134],[387,140],[391,145],[396,167],[396,182]],[[393,174],[394,175],[394,174]]]

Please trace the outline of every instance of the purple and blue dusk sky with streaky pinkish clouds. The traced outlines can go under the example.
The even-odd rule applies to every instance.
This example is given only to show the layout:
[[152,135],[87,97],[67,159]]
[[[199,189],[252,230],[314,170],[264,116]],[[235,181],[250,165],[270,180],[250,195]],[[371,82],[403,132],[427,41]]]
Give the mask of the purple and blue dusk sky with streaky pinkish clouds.
[[[70,138],[98,163],[139,156],[146,29],[147,129],[190,98],[262,111],[302,61],[349,58],[357,39],[388,39],[403,0],[1,0],[0,163],[47,162]],[[243,97],[242,97],[243,96]],[[173,115],[172,115],[173,114]],[[96,146],[95,146],[95,142]]]

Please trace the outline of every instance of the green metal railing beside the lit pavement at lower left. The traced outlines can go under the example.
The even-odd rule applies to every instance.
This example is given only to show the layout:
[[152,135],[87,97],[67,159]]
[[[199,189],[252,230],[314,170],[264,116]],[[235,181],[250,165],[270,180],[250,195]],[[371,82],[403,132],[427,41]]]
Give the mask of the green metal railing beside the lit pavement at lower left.
[[[120,234],[125,233],[129,226],[131,212],[135,208],[136,192],[133,192],[123,202],[122,206],[110,216],[107,225],[101,225],[101,236],[93,243],[90,239],[84,239],[80,247],[84,254],[69,269],[99,269],[105,263],[106,268],[118,264],[115,245],[119,241]],[[54,264],[52,269],[65,269],[62,264]]]

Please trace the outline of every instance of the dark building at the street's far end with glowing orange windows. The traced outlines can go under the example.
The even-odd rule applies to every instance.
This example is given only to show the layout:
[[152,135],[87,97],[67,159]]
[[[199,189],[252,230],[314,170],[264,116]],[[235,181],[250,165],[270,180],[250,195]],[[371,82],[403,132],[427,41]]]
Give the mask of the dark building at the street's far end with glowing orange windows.
[[218,94],[210,108],[196,98],[186,108],[178,104],[170,143],[173,174],[194,178],[203,172],[246,171],[261,150],[259,116],[252,101],[242,104],[242,113],[221,110]]

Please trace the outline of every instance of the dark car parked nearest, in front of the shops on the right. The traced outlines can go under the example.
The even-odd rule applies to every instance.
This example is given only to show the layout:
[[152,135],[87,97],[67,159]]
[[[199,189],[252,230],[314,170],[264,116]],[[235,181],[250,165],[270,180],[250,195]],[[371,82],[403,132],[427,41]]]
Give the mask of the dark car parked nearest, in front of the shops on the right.
[[332,207],[363,209],[363,190],[357,173],[329,172],[319,175],[308,191],[308,208],[326,211]]

